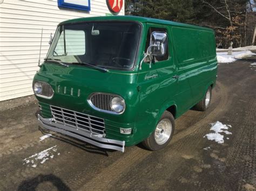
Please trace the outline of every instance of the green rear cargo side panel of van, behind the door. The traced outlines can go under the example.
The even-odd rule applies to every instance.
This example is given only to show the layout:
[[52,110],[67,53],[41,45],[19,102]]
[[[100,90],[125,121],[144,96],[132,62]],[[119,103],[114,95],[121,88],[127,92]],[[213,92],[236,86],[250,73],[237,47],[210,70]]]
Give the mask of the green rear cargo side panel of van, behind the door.
[[172,27],[178,68],[178,111],[183,114],[205,95],[217,74],[215,39],[212,31]]

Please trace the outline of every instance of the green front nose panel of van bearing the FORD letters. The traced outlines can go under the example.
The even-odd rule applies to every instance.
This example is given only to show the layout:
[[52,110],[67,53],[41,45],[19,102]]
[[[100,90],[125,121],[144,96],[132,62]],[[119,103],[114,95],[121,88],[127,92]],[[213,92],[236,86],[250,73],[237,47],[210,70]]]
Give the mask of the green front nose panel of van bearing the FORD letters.
[[117,94],[124,98],[126,106],[138,94],[137,73],[132,71],[102,72],[86,66],[64,67],[44,63],[35,75],[33,82],[35,81],[49,83],[54,91],[50,100],[37,97],[40,102],[91,115],[97,115],[98,112],[87,103],[92,93]]

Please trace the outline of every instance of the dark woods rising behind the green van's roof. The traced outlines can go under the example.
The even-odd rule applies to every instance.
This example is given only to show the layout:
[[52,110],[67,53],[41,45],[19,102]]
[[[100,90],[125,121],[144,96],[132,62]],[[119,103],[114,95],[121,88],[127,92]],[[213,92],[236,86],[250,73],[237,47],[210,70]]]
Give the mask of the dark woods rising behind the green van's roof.
[[211,27],[225,48],[230,41],[234,47],[250,45],[247,42],[253,38],[255,0],[126,0],[125,4],[126,15]]

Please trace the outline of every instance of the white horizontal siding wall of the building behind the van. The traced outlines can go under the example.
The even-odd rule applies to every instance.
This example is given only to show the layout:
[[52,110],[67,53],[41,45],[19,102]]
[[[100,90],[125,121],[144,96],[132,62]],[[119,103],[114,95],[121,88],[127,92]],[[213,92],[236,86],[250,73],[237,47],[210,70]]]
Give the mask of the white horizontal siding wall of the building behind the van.
[[[0,4],[0,101],[33,94],[42,28],[41,62],[58,23],[106,13],[110,12],[105,0],[91,0],[90,12],[59,9],[57,0],[4,0]],[[119,15],[124,15],[124,5]]]

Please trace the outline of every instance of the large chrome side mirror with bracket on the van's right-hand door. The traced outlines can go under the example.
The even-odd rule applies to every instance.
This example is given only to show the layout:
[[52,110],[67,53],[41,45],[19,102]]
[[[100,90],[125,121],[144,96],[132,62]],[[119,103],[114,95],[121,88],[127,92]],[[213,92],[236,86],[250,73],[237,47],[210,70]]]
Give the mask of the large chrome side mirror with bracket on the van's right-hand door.
[[[139,69],[142,69],[142,63],[147,56],[163,56],[166,53],[167,49],[167,42],[168,42],[168,36],[165,32],[152,32],[151,38],[150,38],[150,46],[147,47],[147,51],[144,54],[144,58],[142,61],[140,61]],[[150,59],[150,68],[151,68],[151,62]]]

